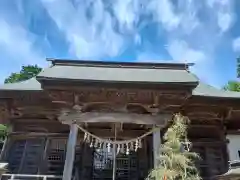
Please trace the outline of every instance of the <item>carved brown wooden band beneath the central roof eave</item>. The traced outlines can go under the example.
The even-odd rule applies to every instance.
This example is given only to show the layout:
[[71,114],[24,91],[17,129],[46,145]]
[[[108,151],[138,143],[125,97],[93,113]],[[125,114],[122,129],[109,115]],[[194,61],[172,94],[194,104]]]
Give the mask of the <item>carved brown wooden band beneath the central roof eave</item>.
[[179,104],[189,97],[187,91],[167,91],[152,89],[116,89],[116,88],[94,88],[79,87],[72,91],[51,90],[50,98],[53,102],[62,104],[83,104],[88,102],[111,102],[118,104],[126,103],[142,103],[153,105],[155,107],[161,105],[163,101],[177,101]]

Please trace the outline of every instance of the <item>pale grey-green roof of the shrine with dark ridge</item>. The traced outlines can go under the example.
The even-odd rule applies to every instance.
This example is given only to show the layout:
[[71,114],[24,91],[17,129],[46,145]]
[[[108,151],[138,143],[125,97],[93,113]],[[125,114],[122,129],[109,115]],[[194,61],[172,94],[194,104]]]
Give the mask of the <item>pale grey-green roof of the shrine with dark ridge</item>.
[[[240,98],[240,92],[214,88],[199,82],[199,79],[184,67],[171,63],[104,63],[53,61],[53,66],[44,69],[37,78],[95,82],[129,83],[198,83],[193,96]],[[0,85],[0,91],[40,91],[41,84],[32,78],[27,81]]]

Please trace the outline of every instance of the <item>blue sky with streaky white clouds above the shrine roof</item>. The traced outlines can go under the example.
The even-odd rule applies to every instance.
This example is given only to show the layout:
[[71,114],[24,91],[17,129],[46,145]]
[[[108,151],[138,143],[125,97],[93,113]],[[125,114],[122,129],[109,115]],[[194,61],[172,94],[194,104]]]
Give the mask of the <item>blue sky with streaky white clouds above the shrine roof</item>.
[[46,57],[193,62],[204,82],[236,77],[237,0],[1,0],[0,81]]

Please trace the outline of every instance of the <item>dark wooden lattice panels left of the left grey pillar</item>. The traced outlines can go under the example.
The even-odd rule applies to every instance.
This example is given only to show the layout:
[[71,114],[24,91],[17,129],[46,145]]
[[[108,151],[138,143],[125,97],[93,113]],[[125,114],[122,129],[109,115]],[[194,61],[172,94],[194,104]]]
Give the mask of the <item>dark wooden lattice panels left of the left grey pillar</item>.
[[61,175],[67,139],[14,140],[7,155],[10,173]]

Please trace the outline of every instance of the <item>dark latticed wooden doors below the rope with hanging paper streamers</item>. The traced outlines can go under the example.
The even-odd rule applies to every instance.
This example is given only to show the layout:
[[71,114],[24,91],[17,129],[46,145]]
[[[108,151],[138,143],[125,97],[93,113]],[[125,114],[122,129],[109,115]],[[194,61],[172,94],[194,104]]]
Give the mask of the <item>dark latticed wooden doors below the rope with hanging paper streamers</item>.
[[[152,167],[152,150],[149,143],[152,138],[146,138],[143,148],[129,155],[119,153],[116,157],[116,180],[144,180]],[[78,164],[80,179],[112,180],[113,152],[107,148],[90,148],[83,143]]]

